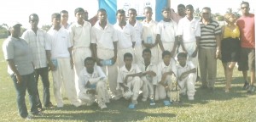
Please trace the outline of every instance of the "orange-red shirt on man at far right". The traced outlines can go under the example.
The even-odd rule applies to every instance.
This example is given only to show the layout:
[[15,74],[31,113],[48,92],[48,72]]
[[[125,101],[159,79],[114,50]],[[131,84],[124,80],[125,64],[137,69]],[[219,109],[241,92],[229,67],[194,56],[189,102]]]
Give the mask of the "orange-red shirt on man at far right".
[[254,14],[241,16],[236,25],[240,29],[241,47],[255,48],[255,23]]

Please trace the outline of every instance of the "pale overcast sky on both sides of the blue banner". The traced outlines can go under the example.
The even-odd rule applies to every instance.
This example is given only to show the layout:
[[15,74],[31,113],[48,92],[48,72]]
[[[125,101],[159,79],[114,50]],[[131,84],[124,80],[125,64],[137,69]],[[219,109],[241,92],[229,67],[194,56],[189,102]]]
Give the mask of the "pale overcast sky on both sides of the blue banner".
[[[255,0],[246,0],[250,3],[251,12],[255,7]],[[224,14],[227,8],[237,10],[240,7],[241,0],[171,0],[171,7],[177,11],[177,4],[192,4],[194,8],[210,7],[212,13]],[[69,12],[69,22],[75,20],[73,11],[75,8],[84,8],[88,10],[89,17],[96,14],[98,9],[97,0],[5,0],[0,7],[0,24],[9,23],[9,21],[19,21],[24,27],[28,26],[29,14],[39,15],[39,26],[49,25],[50,15],[66,9]]]

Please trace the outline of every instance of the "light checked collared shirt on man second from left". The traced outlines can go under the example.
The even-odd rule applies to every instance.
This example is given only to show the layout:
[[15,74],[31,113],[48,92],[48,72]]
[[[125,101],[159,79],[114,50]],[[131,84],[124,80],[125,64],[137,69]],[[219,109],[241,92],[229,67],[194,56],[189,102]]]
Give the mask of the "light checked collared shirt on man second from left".
[[26,30],[21,36],[32,48],[33,64],[35,69],[47,67],[47,58],[45,52],[46,42],[49,36],[46,31],[38,29],[37,34],[32,29]]

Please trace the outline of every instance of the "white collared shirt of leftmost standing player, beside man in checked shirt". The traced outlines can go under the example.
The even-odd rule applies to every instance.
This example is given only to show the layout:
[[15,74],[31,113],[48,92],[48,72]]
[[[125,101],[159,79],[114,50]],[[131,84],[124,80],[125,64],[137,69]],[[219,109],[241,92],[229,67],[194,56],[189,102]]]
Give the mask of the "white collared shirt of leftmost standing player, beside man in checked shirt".
[[51,58],[70,58],[68,47],[72,47],[69,33],[61,27],[59,31],[51,28],[48,31],[49,42],[46,43],[46,50],[50,50]]

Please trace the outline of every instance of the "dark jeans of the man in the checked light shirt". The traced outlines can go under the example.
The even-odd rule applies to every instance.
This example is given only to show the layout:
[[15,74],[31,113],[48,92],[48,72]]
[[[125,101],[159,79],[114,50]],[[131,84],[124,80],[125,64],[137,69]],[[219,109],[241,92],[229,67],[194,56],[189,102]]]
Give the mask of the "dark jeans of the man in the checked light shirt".
[[[50,104],[49,101],[49,75],[48,75],[48,67],[45,68],[40,68],[40,69],[35,69],[35,79],[36,79],[36,85],[37,85],[37,91],[38,91],[38,78],[39,75],[41,76],[41,80],[43,82],[44,86],[44,106],[48,106]],[[38,99],[38,107],[42,108],[42,103],[40,101],[39,93],[37,92],[37,99]]]

